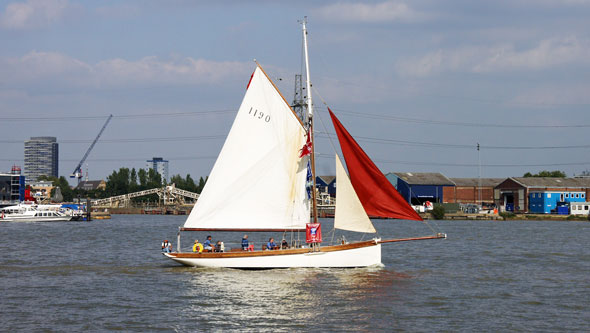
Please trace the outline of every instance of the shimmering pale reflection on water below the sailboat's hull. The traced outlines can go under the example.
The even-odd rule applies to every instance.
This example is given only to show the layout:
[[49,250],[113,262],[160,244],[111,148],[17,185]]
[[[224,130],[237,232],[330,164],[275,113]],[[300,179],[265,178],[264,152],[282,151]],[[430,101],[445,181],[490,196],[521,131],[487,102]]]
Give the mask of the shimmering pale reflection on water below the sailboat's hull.
[[[179,268],[188,276],[183,315],[212,327],[306,327],[319,321],[334,327],[375,327],[367,308],[401,299],[412,277],[383,267],[249,271]],[[355,323],[342,326],[338,323]]]

